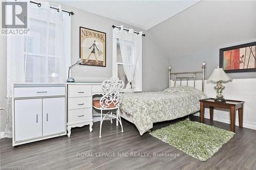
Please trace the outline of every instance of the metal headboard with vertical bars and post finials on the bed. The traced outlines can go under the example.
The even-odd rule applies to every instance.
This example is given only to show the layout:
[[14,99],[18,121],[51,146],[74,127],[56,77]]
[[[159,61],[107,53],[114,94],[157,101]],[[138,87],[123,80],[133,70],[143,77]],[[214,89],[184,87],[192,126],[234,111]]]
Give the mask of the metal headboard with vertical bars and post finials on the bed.
[[[188,80],[193,79],[194,80],[194,87],[196,86],[196,74],[202,73],[202,91],[204,91],[204,68],[205,68],[205,62],[202,62],[202,71],[188,71],[188,72],[171,72],[172,67],[169,66],[169,87],[170,87],[170,81],[172,80],[172,75],[174,75],[174,85],[176,85],[177,79],[180,81],[180,86],[182,81],[185,79],[187,81],[188,85]],[[180,75],[190,75],[191,77],[183,77]]]

